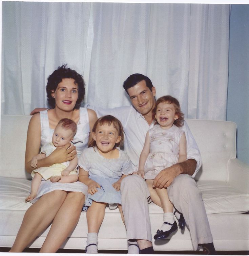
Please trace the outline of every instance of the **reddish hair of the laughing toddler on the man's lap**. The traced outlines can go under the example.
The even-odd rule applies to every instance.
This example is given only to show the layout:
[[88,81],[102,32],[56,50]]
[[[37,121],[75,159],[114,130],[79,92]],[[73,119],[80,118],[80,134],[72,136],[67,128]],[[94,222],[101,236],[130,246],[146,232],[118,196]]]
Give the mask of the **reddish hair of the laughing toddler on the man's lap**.
[[155,102],[155,107],[152,110],[152,117],[154,119],[154,122],[158,124],[157,119],[155,119],[155,113],[157,112],[157,107],[158,104],[161,102],[166,102],[169,104],[173,104],[174,109],[175,109],[175,114],[178,115],[178,119],[174,120],[174,125],[176,125],[177,127],[182,127],[183,123],[184,123],[184,114],[181,112],[181,107],[180,107],[180,103],[177,99],[175,99],[174,97],[170,96],[170,95],[166,95],[163,97],[160,97],[156,102]]

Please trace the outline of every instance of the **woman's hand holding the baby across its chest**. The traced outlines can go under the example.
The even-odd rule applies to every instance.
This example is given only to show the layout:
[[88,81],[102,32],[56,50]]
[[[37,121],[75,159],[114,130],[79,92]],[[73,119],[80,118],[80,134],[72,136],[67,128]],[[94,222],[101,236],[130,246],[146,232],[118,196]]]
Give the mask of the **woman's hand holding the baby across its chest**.
[[76,147],[68,142],[63,147],[56,148],[47,158],[53,164],[60,164],[74,159],[76,155]]

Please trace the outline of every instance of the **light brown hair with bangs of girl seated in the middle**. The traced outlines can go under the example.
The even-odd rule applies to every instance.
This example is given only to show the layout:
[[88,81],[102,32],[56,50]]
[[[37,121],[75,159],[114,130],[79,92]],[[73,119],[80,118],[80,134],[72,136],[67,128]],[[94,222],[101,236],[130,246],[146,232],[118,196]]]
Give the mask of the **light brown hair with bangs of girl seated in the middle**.
[[[121,140],[119,143],[115,143],[115,146],[113,147],[113,149],[115,149],[116,147],[120,147],[124,141],[124,129],[119,119],[111,115],[102,116],[95,122],[94,127],[92,127],[92,132],[96,133],[97,125],[103,125],[103,124],[108,124],[109,126],[112,124],[114,128],[117,130],[118,136],[121,136]],[[93,138],[91,138],[88,142],[88,147],[90,148],[90,147],[96,147],[96,146],[97,146],[96,141]]]

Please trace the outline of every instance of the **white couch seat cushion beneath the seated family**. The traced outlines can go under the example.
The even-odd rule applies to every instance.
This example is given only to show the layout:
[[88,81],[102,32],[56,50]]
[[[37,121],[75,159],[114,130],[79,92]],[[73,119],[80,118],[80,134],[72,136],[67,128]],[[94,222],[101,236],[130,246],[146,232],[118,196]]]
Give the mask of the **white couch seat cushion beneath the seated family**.
[[[1,210],[26,210],[31,203],[24,199],[29,194],[31,181],[25,179],[1,177],[0,180],[0,209]],[[249,211],[249,195],[236,191],[225,182],[199,181],[199,189],[203,193],[203,201],[208,214],[211,213],[237,213]],[[118,209],[106,212],[118,212]],[[151,213],[162,213],[162,208],[151,203]]]

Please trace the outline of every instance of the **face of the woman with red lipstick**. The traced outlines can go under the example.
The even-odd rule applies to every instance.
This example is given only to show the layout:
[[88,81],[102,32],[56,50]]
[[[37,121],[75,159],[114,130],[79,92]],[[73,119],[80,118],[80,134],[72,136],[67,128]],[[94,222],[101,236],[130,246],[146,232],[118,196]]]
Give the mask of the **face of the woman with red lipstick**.
[[70,111],[78,100],[78,85],[72,78],[63,78],[51,95],[55,98],[57,108]]

